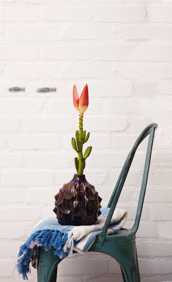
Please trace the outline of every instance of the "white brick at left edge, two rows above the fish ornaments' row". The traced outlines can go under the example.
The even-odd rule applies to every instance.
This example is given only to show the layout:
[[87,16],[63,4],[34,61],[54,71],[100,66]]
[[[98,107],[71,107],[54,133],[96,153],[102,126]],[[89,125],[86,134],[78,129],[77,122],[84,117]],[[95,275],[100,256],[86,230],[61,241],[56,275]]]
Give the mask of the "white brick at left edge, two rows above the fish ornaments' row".
[[0,46],[0,60],[30,60],[38,59],[38,50],[31,46]]

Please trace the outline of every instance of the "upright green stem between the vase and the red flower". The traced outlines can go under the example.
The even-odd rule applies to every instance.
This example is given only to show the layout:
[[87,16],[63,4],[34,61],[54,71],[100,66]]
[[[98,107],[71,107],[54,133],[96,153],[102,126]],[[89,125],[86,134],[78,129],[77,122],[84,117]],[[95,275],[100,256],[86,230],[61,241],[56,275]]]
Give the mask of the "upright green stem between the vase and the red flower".
[[83,147],[83,113],[80,113],[79,117],[79,141],[80,141],[80,152],[78,152],[78,160],[79,160],[79,168],[78,168],[78,174],[83,174],[84,170],[84,159],[83,159],[83,153],[82,153],[82,147]]

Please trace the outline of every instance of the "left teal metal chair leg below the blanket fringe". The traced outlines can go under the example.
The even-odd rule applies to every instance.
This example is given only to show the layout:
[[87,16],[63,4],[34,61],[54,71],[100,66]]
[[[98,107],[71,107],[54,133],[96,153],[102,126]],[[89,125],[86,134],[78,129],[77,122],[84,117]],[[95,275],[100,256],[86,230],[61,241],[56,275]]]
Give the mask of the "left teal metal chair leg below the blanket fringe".
[[57,279],[57,266],[62,259],[54,255],[54,248],[45,251],[40,248],[39,262],[38,262],[38,282],[56,282]]

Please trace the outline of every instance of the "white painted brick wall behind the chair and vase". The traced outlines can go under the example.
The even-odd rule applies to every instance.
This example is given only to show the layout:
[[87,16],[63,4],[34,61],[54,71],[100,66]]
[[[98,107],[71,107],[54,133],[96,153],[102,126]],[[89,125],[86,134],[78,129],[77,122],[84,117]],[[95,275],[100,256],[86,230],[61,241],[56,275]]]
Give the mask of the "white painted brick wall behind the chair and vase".
[[[0,1],[0,280],[23,281],[14,262],[34,225],[54,216],[54,195],[75,173],[78,128],[72,87],[89,87],[84,128],[92,153],[85,175],[106,206],[139,133],[158,123],[136,234],[142,282],[172,281],[172,2],[162,0]],[[25,92],[9,92],[13,86]],[[38,93],[37,88],[57,92]],[[118,207],[132,227],[146,140]],[[29,281],[36,281],[31,269]],[[75,254],[57,281],[122,282],[102,254]]]

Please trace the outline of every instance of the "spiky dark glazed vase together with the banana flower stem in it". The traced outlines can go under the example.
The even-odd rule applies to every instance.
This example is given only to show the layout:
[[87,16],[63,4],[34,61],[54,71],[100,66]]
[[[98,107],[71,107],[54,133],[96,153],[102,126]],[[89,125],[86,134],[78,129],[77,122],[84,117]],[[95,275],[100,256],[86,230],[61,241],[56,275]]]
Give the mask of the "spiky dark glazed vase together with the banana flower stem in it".
[[89,104],[87,84],[83,88],[80,98],[76,85],[74,85],[73,103],[80,113],[79,131],[77,130],[75,133],[76,139],[72,138],[72,147],[78,153],[78,157],[74,159],[77,174],[74,174],[72,180],[64,184],[59,193],[54,196],[56,201],[53,211],[61,225],[91,225],[98,220],[98,216],[101,214],[100,202],[102,199],[83,174],[85,160],[92,150],[92,147],[89,146],[83,154],[83,144],[88,141],[90,135],[89,132],[86,135],[86,131],[83,131],[83,113]]

